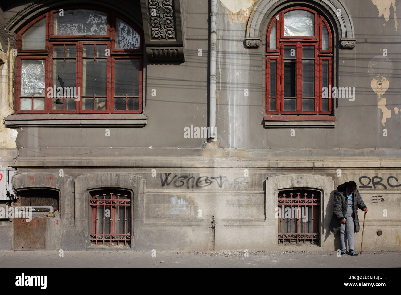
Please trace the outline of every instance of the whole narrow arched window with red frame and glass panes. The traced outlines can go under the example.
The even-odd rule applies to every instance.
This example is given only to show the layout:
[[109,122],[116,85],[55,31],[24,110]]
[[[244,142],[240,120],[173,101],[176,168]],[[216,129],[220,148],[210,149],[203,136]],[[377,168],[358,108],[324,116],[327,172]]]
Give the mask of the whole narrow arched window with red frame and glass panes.
[[266,114],[272,120],[332,115],[331,98],[322,97],[322,87],[332,85],[333,59],[324,17],[304,7],[283,10],[269,22],[266,37]]

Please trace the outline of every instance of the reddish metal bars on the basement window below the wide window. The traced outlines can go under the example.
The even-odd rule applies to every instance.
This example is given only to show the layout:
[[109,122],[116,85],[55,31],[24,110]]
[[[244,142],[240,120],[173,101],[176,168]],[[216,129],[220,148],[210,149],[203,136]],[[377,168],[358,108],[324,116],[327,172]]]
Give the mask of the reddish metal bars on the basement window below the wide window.
[[[121,194],[117,194],[117,198],[113,193],[109,195],[103,194],[102,196],[95,195],[91,199],[89,199],[90,205],[92,207],[92,234],[90,235],[90,239],[96,245],[98,243],[109,244],[117,244],[124,243],[130,244],[131,241],[131,233],[130,233],[130,209],[131,209],[131,199],[128,195],[121,196]],[[120,233],[119,228],[119,211],[120,208],[124,209],[124,232]],[[109,222],[106,226],[106,218],[108,216],[105,215],[106,209],[110,210]],[[115,212],[117,211],[117,218],[115,218]],[[128,211],[128,216],[127,216]],[[101,216],[99,216],[101,215]],[[102,220],[101,229],[99,228],[99,219]]]

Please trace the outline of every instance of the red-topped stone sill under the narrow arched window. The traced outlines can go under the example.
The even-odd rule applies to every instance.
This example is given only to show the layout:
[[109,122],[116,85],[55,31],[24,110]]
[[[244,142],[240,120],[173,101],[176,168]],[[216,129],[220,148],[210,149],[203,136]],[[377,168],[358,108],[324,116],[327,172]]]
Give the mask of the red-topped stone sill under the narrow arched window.
[[333,129],[335,116],[296,116],[296,115],[265,115],[265,128],[311,128]]

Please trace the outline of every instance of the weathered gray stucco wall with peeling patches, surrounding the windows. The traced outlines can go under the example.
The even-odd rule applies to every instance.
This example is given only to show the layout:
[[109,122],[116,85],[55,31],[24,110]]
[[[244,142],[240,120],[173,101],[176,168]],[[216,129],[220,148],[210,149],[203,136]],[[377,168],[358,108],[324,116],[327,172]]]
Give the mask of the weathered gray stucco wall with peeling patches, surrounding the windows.
[[[356,99],[338,101],[334,129],[296,129],[296,136],[292,137],[290,129],[263,128],[265,36],[261,37],[258,49],[245,47],[247,17],[243,12],[229,11],[222,2],[231,8],[230,1],[218,2],[217,142],[206,144],[205,138],[184,138],[185,127],[206,127],[208,117],[208,2],[187,0],[181,4],[185,62],[153,63],[144,57],[143,113],[148,117],[145,127],[109,128],[109,137],[105,136],[105,128],[18,128],[18,149],[2,150],[2,166],[16,167],[20,175],[57,176],[59,169],[64,169],[70,182],[79,183],[79,190],[74,193],[69,184],[67,192],[61,194],[61,202],[69,208],[72,203],[80,204],[77,212],[81,214],[73,216],[70,210],[70,216],[61,216],[63,234],[51,241],[52,247],[57,243],[66,249],[88,246],[87,225],[83,221],[85,194],[94,186],[82,179],[93,177],[101,186],[110,185],[118,174],[127,174],[143,178],[139,181],[144,190],[143,216],[140,226],[135,228],[137,240],[133,240],[137,250],[207,250],[211,215],[216,221],[216,250],[276,248],[277,239],[272,237],[277,227],[271,225],[272,216],[268,216],[275,201],[268,199],[266,179],[275,175],[292,179],[294,174],[304,174],[325,176],[328,183],[324,186],[329,187],[334,181],[334,189],[345,181],[356,181],[362,186],[361,194],[370,210],[365,235],[372,238],[366,241],[366,249],[398,249],[400,189],[388,184],[401,184],[401,113],[395,114],[393,110],[395,106],[401,108],[401,37],[400,31],[395,30],[393,8],[386,21],[378,16],[371,1],[342,1],[351,12],[357,41],[352,50],[338,50],[338,85],[355,87]],[[8,19],[23,8],[18,2],[15,5],[7,8]],[[401,8],[399,2],[395,5]],[[393,71],[386,76],[389,89],[382,95],[387,98],[391,117],[383,124],[383,112],[377,105],[380,98],[371,88],[373,78],[368,65],[376,55],[382,55],[384,48]],[[202,56],[198,56],[198,49],[202,49]],[[153,89],[156,96],[152,96]],[[248,97],[244,96],[244,89],[249,90]],[[384,128],[388,130],[387,137],[383,137]],[[150,146],[153,148],[149,149]],[[156,176],[152,176],[152,169],[156,169]],[[342,176],[338,176],[338,169]],[[205,187],[206,183],[192,187],[191,182],[187,188],[186,183],[180,186],[174,181],[162,185],[168,173],[170,178],[215,178]],[[372,184],[370,188],[363,187],[359,182],[362,176],[370,180],[381,177],[386,188]],[[394,178],[389,180],[391,176],[398,182]],[[368,183],[367,178],[361,181]],[[308,183],[308,187],[321,189],[320,183]],[[20,184],[28,185],[28,180]],[[124,187],[138,189],[138,185]],[[288,187],[280,189],[284,188]],[[331,194],[332,191],[324,195],[328,199],[321,208],[321,229],[325,249],[336,250],[338,237],[336,240],[332,234],[327,235]],[[375,195],[383,195],[384,201],[376,203]],[[185,210],[175,212],[171,201],[174,197],[188,203]],[[270,205],[266,207],[267,204]],[[199,209],[203,211],[202,217],[198,217]],[[383,210],[389,211],[386,218]],[[138,210],[134,214],[137,216]],[[74,224],[73,218],[77,218]],[[380,237],[376,235],[378,229],[383,230]],[[7,222],[0,226],[2,235],[11,236],[10,230]],[[356,240],[360,240],[360,233]],[[0,248],[10,245],[0,242]]]

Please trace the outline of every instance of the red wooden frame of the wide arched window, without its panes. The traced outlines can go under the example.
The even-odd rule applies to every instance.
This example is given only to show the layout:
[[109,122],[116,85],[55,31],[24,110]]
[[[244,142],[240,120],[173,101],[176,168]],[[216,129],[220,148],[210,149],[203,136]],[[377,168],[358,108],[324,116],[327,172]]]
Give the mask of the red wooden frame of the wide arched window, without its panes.
[[[107,35],[97,36],[57,36],[53,35],[53,22],[54,14],[58,13],[59,10],[51,10],[45,14],[35,18],[28,22],[16,35],[16,47],[18,55],[16,57],[16,113],[45,113],[45,114],[113,114],[113,113],[130,113],[130,114],[141,114],[142,113],[142,102],[143,102],[143,90],[142,90],[142,57],[143,57],[143,32],[134,25],[131,21],[120,16],[114,12],[95,8],[91,6],[69,6],[63,8],[64,12],[74,9],[88,9],[107,14]],[[45,18],[46,24],[46,47],[41,50],[22,50],[22,35],[36,22]],[[115,48],[115,24],[116,18],[119,18],[130,25],[140,36],[140,48],[139,49],[116,49]],[[110,49],[109,55],[107,56],[107,104],[106,110],[83,110],[83,45],[84,44],[101,44],[107,45]],[[81,87],[81,99],[76,101],[75,110],[53,110],[53,98],[47,97],[47,88],[53,87],[53,46],[54,45],[76,45],[76,87]],[[112,86],[114,85],[114,67],[113,63],[116,58],[130,58],[139,59],[140,61],[140,73],[139,73],[139,110],[115,110],[113,111],[113,94]],[[21,89],[21,60],[22,59],[44,59],[45,65],[45,110],[34,111],[34,110],[20,110],[20,89]],[[113,82],[112,82],[113,81]],[[32,102],[33,104],[33,102]],[[63,104],[64,106],[64,104]]]

